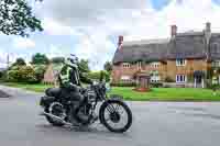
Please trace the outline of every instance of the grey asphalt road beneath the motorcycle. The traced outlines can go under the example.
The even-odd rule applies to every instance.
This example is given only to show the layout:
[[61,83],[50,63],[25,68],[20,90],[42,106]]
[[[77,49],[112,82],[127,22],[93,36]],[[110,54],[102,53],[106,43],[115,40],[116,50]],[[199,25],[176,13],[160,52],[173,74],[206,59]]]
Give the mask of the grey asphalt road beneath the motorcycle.
[[41,94],[4,88],[0,98],[1,146],[217,146],[220,103],[128,102],[133,125],[124,134],[97,124],[85,131],[53,127],[37,105]]

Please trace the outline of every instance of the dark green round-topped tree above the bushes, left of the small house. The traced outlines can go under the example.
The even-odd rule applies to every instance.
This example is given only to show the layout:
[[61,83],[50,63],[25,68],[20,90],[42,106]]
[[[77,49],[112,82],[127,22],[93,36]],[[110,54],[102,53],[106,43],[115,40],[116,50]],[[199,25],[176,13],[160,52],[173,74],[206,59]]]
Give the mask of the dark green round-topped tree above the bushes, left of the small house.
[[47,65],[50,63],[48,58],[46,57],[45,54],[35,54],[33,57],[32,57],[32,61],[31,64],[33,65]]

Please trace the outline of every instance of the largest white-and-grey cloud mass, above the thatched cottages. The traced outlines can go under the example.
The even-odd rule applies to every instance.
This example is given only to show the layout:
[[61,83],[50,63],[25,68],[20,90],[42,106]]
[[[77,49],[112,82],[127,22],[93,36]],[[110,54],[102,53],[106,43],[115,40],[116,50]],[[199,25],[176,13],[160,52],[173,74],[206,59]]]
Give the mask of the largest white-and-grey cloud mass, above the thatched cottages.
[[161,11],[148,0],[53,0],[40,10],[50,18],[44,24],[48,33],[79,38],[75,53],[89,58],[95,69],[113,56],[116,44],[109,36],[122,34],[125,41],[169,37],[172,24],[177,24],[178,32],[201,31],[207,21],[213,31],[220,31],[220,7],[211,0],[170,0]]

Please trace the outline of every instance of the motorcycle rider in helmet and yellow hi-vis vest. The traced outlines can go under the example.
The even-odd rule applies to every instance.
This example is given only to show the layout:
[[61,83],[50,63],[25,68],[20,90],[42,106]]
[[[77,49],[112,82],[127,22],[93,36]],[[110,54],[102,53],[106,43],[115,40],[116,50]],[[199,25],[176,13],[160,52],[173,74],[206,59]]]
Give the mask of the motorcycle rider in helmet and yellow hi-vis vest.
[[[75,55],[70,55],[69,57],[65,58],[65,65],[63,66],[58,80],[59,86],[62,89],[62,98],[65,100],[65,98],[70,98],[72,101],[77,102],[74,108],[73,115],[78,114],[76,112],[81,105],[84,105],[84,96],[81,92],[84,91],[84,88],[81,87],[80,82],[80,76],[79,69],[78,69],[78,58]],[[87,79],[90,83],[91,80]],[[81,120],[88,120],[88,116],[80,115]]]

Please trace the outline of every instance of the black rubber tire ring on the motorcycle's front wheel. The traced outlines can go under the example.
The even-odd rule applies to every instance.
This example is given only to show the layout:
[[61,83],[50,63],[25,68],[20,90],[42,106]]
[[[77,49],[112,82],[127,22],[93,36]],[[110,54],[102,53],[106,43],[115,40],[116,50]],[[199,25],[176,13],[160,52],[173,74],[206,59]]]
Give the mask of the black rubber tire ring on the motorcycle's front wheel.
[[[121,105],[123,108],[123,110],[127,112],[128,114],[128,123],[121,127],[121,128],[114,128],[112,127],[111,125],[108,124],[107,120],[105,119],[105,111],[107,110],[107,108],[110,105],[110,104],[118,104],[118,105]],[[101,105],[100,108],[100,111],[99,111],[99,119],[100,119],[100,122],[110,131],[110,132],[114,132],[114,133],[124,133],[127,132],[131,125],[132,125],[132,112],[130,110],[130,108],[123,102],[123,101],[120,101],[120,100],[109,100],[109,101],[106,101],[103,102],[103,104]]]

